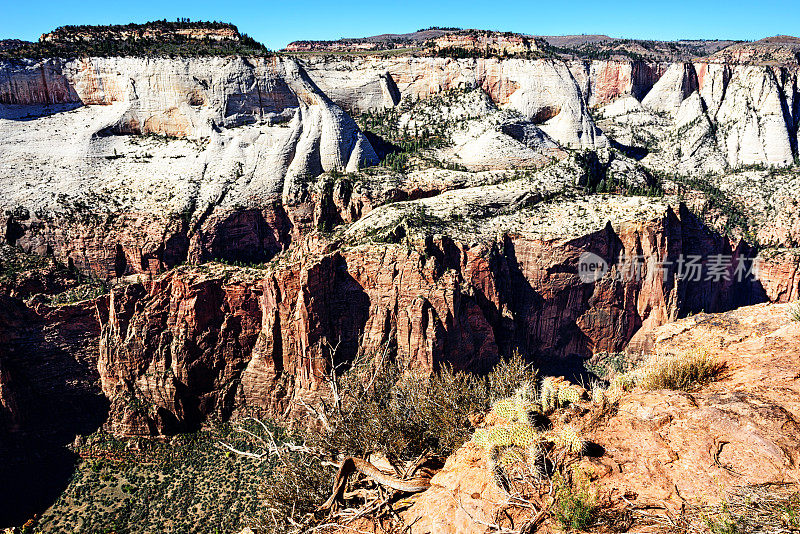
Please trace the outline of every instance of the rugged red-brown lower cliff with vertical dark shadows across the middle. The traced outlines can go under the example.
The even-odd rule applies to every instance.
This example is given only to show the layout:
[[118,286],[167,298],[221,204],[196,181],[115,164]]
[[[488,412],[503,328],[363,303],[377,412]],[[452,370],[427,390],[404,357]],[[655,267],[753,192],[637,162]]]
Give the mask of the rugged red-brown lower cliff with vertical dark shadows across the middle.
[[[612,266],[597,282],[579,279],[585,251]],[[570,239],[332,252],[309,242],[266,271],[178,269],[112,294],[99,362],[109,427],[148,435],[247,409],[286,417],[318,394],[332,363],[387,346],[415,372],[488,369],[512,349],[563,371],[688,311],[763,299],[750,281],[694,283],[647,267],[714,253],[730,254],[727,241],[667,209]],[[641,276],[624,275],[631,265],[619,258],[637,255]]]

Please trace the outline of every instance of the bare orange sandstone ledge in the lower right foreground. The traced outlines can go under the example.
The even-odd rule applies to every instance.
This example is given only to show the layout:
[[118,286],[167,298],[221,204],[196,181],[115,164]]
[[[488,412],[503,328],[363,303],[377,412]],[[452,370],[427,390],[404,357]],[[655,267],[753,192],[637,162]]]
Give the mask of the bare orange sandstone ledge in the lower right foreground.
[[[737,487],[796,484],[800,445],[797,340],[788,306],[743,307],[700,314],[657,329],[653,349],[705,348],[726,365],[723,377],[691,393],[640,391],[612,413],[595,407],[568,422],[602,447],[577,469],[634,532],[657,532],[687,506],[724,501]],[[487,532],[513,528],[532,515],[500,491],[485,450],[468,443],[416,495],[405,512],[412,532]],[[680,523],[673,523],[681,531]],[[369,525],[365,525],[369,528]],[[626,528],[626,530],[627,530]],[[688,528],[688,527],[684,527]],[[558,532],[557,524],[543,526]]]

